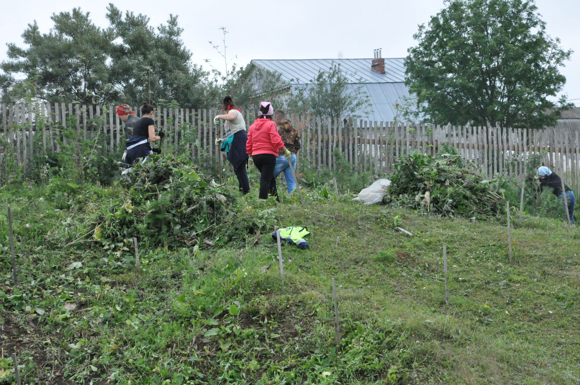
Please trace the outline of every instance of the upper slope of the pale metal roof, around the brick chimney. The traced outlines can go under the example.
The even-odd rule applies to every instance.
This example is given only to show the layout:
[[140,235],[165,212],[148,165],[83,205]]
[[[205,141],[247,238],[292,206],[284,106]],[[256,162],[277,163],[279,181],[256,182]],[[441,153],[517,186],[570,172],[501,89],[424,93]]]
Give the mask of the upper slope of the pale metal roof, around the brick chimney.
[[397,83],[405,81],[403,58],[385,59],[385,73],[371,71],[372,59],[252,60],[252,64],[276,71],[289,84],[309,84],[318,70],[327,71],[332,62],[340,64],[353,83]]

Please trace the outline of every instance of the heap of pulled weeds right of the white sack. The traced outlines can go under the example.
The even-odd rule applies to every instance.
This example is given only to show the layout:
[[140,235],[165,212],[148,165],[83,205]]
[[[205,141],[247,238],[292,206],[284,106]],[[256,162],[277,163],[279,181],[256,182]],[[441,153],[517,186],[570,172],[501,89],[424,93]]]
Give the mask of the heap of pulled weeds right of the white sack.
[[443,216],[493,218],[505,213],[500,182],[486,180],[453,148],[398,159],[386,201]]

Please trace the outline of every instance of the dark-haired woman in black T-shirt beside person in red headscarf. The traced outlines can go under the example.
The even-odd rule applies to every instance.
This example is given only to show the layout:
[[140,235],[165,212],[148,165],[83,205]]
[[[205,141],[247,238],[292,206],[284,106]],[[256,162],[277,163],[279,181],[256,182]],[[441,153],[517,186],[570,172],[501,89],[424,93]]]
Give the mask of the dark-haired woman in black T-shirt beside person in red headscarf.
[[137,159],[147,158],[148,155],[153,154],[150,143],[160,141],[164,136],[164,132],[160,132],[159,136],[155,136],[153,106],[147,104],[147,102],[143,103],[141,119],[135,123],[133,137],[125,142],[127,148],[126,164],[131,166]]

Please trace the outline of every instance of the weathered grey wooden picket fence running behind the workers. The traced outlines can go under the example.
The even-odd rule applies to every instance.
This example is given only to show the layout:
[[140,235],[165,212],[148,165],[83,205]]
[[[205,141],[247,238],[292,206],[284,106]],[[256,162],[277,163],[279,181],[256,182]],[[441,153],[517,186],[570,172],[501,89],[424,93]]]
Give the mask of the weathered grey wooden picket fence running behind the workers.
[[[125,133],[115,106],[79,106],[64,103],[3,104],[0,152],[12,157],[24,173],[30,170],[34,155],[59,152],[65,126],[77,130],[78,137],[101,140],[105,154],[124,150]],[[134,108],[137,116],[139,108]],[[202,166],[213,165],[218,155],[214,140],[223,126],[216,127],[213,117],[221,110],[190,108],[155,108],[155,124],[166,136],[162,150],[186,151]],[[74,117],[73,121],[70,118]],[[244,111],[247,126],[255,114]],[[333,151],[338,149],[356,172],[388,175],[398,157],[411,151],[435,154],[441,146],[457,148],[487,177],[505,174],[521,177],[528,158],[543,155],[543,163],[565,176],[570,187],[580,190],[580,140],[578,129],[564,125],[558,129],[501,129],[485,126],[415,125],[393,122],[336,119],[311,114],[291,115],[301,133],[298,170],[336,168]],[[0,159],[2,161],[2,159]],[[2,168],[0,168],[2,170]],[[37,170],[38,171],[38,170]],[[0,181],[6,176],[0,174]]]

